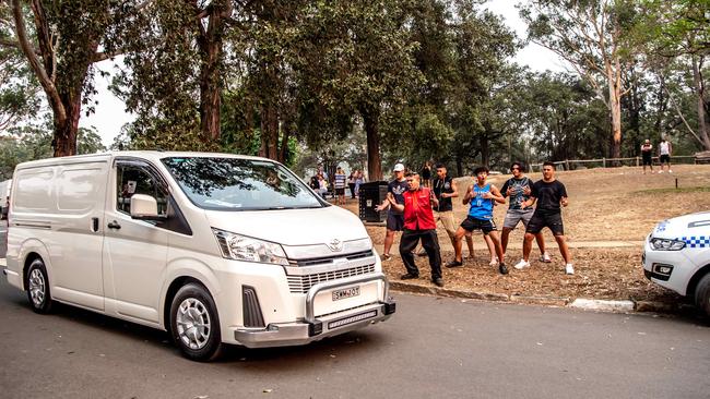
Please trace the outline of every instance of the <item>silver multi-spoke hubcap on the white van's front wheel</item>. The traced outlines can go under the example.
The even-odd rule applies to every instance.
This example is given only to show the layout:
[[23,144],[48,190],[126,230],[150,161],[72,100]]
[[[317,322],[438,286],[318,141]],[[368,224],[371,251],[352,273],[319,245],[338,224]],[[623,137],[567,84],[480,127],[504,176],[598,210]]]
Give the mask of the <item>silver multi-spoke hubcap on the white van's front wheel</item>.
[[212,332],[210,314],[202,302],[188,298],[177,311],[178,337],[190,349],[202,349],[208,344]]

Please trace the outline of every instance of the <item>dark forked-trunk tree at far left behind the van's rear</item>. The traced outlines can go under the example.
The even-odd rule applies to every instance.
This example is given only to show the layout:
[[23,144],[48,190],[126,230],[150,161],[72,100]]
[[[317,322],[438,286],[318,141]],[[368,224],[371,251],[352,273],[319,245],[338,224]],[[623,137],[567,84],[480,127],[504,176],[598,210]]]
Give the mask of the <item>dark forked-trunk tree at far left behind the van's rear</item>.
[[[109,0],[9,0],[3,21],[12,36],[2,47],[20,49],[42,86],[54,116],[54,156],[76,154],[82,106],[95,94],[95,64],[116,55],[118,33],[142,5]],[[85,110],[91,112],[91,108]]]

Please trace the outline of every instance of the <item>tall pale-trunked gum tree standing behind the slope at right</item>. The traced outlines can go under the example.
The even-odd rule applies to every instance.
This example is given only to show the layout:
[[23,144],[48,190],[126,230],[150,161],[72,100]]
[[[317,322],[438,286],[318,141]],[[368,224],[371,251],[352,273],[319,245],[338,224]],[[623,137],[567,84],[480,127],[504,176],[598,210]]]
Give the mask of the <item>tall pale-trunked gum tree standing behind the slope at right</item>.
[[566,60],[606,104],[612,121],[612,153],[622,149],[622,75],[632,62],[624,35],[635,21],[631,0],[529,0],[521,16],[529,38]]

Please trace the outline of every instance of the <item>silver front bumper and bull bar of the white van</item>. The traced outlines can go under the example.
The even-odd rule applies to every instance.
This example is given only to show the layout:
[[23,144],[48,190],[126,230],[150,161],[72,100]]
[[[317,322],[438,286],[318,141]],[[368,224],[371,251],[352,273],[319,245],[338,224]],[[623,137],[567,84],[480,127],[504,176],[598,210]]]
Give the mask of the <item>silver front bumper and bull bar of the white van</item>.
[[[365,304],[343,312],[320,316],[313,315],[316,294],[323,290],[336,289],[353,283],[375,280],[384,282],[383,301]],[[237,328],[234,338],[247,348],[287,347],[306,344],[326,337],[340,335],[363,328],[367,325],[388,319],[397,310],[394,300],[389,298],[389,285],[382,274],[358,276],[317,283],[306,297],[306,317],[301,322],[271,323],[265,328]]]

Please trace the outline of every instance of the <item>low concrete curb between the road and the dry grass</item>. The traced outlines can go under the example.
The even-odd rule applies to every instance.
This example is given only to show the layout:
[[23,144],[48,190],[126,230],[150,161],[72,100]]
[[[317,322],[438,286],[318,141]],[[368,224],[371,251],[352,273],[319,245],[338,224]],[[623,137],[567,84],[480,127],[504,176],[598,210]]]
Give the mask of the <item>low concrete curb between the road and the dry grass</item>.
[[435,286],[423,286],[418,283],[390,281],[390,288],[394,291],[419,293],[436,297],[473,299],[487,302],[510,302],[520,304],[533,304],[541,306],[571,307],[584,311],[614,312],[614,313],[676,313],[683,310],[683,305],[675,303],[652,302],[652,301],[629,301],[629,300],[597,300],[588,298],[564,298],[546,295],[518,295],[497,292],[478,292],[439,288]]

